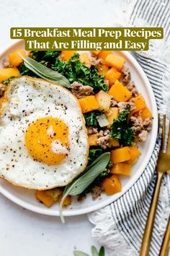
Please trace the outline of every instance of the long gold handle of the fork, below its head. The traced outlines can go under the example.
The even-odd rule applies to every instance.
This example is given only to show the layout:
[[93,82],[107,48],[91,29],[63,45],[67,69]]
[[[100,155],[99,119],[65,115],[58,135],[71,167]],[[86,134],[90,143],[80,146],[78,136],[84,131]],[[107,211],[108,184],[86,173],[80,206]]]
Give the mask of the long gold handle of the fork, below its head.
[[143,234],[143,241],[140,247],[140,256],[148,256],[150,244],[151,244],[151,236],[153,231],[153,223],[156,216],[156,206],[158,203],[158,195],[161,187],[161,179],[163,173],[158,172],[156,179],[156,187],[153,192],[153,200],[151,202],[151,206],[148,212],[148,219],[146,221],[146,228]]

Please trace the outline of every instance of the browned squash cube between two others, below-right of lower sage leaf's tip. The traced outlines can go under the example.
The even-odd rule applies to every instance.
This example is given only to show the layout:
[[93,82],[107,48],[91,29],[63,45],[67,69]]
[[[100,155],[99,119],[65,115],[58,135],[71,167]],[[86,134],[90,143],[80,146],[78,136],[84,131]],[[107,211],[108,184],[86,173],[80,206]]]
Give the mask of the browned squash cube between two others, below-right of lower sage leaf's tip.
[[116,163],[110,169],[110,173],[130,176],[131,166],[129,163]]

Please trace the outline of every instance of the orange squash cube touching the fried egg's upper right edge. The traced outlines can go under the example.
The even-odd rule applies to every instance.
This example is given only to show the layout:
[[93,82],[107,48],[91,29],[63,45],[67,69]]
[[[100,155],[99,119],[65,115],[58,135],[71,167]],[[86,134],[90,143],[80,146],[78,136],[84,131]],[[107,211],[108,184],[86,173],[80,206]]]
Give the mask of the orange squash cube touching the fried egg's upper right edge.
[[98,104],[94,95],[90,95],[90,96],[86,96],[84,98],[80,98],[79,99],[79,104],[81,106],[82,113],[97,110],[99,108],[99,104]]

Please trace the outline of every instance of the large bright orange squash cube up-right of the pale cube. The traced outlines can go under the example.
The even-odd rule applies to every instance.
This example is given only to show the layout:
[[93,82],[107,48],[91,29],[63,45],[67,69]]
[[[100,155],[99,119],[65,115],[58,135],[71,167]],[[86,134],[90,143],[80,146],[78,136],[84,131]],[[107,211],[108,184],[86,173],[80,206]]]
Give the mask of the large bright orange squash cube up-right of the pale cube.
[[116,80],[115,84],[109,89],[109,95],[112,95],[115,101],[121,102],[128,101],[132,93],[121,82]]

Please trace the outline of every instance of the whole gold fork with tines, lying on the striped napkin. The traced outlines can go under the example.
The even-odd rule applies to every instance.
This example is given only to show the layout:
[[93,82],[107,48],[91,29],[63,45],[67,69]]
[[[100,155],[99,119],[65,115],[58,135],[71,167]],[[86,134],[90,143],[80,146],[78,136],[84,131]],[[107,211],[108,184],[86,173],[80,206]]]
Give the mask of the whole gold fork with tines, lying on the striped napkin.
[[[159,121],[160,121],[160,114],[158,114],[158,124],[159,124]],[[148,252],[151,244],[151,236],[153,231],[153,223],[156,216],[156,206],[158,203],[158,195],[161,187],[161,179],[165,172],[169,173],[169,170],[170,170],[170,127],[169,127],[168,142],[166,147],[166,115],[164,114],[162,134],[161,134],[161,150],[158,155],[158,163],[156,166],[156,171],[157,171],[156,187],[153,193],[153,199],[148,212],[146,228],[143,234],[142,245],[140,247],[140,256],[148,256]]]

